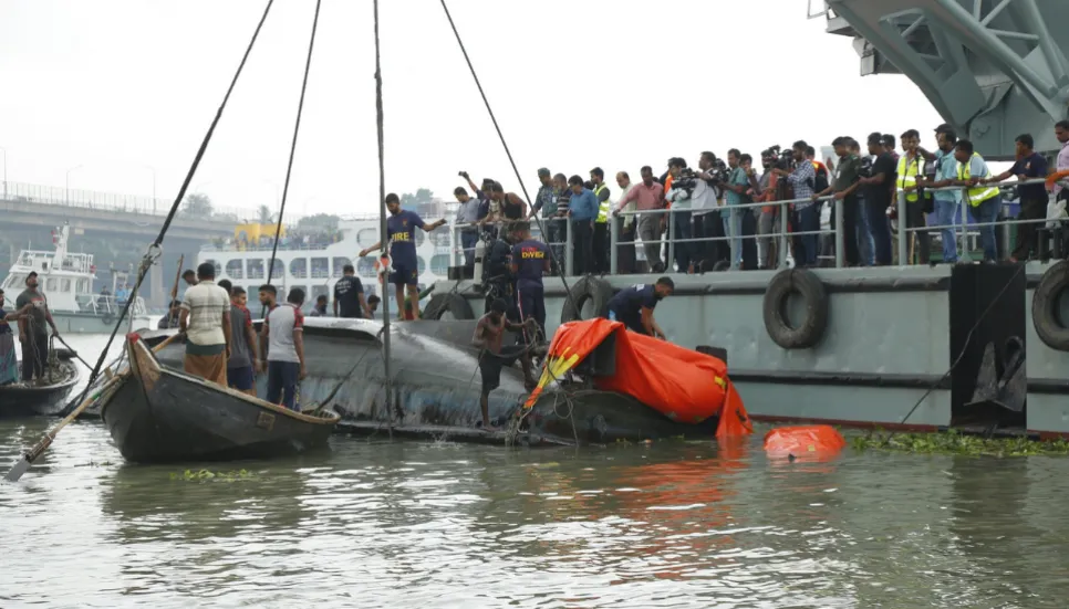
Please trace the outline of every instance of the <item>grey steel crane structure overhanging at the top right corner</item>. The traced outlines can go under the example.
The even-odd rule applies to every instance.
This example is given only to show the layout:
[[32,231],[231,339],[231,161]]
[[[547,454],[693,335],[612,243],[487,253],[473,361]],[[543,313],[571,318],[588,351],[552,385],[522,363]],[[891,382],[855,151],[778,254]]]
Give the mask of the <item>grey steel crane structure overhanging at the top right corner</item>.
[[817,1],[809,17],[854,39],[862,75],[904,74],[986,157],[1011,160],[1024,133],[1039,151],[1061,147],[1054,124],[1069,117],[1069,2]]

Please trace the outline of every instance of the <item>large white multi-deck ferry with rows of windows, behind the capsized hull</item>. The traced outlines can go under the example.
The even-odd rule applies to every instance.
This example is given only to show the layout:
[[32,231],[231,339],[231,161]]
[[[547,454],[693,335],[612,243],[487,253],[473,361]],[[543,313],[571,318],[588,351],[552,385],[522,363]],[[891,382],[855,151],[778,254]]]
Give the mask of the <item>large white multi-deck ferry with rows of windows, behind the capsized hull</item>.
[[[433,201],[417,206],[414,211],[427,222],[446,218],[450,224],[433,231],[416,231],[416,255],[419,265],[419,290],[448,276],[449,266],[458,265],[459,240],[453,234],[452,220],[456,212],[452,206]],[[256,302],[260,285],[267,283],[271,262],[271,240],[274,224],[241,224],[227,242],[201,248],[197,263],[211,262],[216,266],[216,280],[229,280],[235,286],[248,292]],[[361,250],[374,245],[380,237],[378,217],[343,219],[336,230],[309,230],[283,227],[271,283],[279,288],[279,297],[292,287],[304,291],[305,312],[311,311],[315,298],[326,294],[333,301],[334,283],[352,264],[356,276],[364,284],[364,295],[382,296],[382,286],[375,273],[375,256],[356,258]],[[393,293],[392,291],[390,292]],[[396,304],[391,301],[391,309]]]

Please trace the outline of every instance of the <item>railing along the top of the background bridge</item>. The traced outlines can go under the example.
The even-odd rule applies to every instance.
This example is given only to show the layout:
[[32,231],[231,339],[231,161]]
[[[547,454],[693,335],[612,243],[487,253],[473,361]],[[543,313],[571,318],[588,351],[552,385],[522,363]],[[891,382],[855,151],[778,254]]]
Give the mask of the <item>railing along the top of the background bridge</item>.
[[[121,195],[116,192],[100,192],[95,190],[66,189],[56,186],[43,186],[23,182],[6,182],[0,196],[6,201],[14,203],[32,203],[46,206],[62,206],[69,208],[90,209],[97,211],[112,211],[125,213],[138,213],[144,216],[166,216],[170,210],[172,201],[166,199],[153,199],[152,197],[138,197],[135,195]],[[236,221],[250,220],[259,216],[259,212],[250,209],[227,208],[211,206],[214,218],[230,217]],[[205,218],[201,218],[205,219]],[[206,220],[206,219],[205,219]]]

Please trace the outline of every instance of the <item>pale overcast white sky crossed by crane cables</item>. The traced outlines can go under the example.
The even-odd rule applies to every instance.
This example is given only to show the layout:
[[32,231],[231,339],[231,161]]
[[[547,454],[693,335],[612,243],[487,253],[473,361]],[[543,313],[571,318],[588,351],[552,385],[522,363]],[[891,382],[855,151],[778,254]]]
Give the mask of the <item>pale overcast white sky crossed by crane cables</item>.
[[[3,0],[8,179],[173,199],[266,2]],[[452,0],[533,197],[536,170],[587,176],[702,150],[921,130],[938,115],[896,75],[859,76],[850,39],[805,0]],[[220,207],[273,207],[313,0],[276,0],[194,178]],[[519,191],[438,0],[383,0],[386,188],[450,197],[457,171]],[[670,12],[671,11],[671,12]],[[371,0],[323,0],[288,208],[374,212]],[[277,185],[277,186],[276,186]]]

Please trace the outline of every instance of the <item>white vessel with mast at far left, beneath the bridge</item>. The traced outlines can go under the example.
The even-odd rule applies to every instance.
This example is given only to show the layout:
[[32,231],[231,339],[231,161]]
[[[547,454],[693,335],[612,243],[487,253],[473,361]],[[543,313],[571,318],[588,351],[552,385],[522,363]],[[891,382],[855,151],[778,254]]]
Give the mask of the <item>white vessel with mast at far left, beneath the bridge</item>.
[[[14,308],[19,294],[25,290],[27,275],[35,271],[38,290],[44,294],[61,335],[110,333],[126,304],[125,300],[117,302],[114,296],[121,293],[126,273],[113,271],[110,291],[94,293],[96,265],[93,256],[68,252],[70,235],[71,227],[64,224],[52,232],[54,250],[22,250],[19,253],[3,281],[4,308]],[[132,329],[151,327],[152,318],[141,297],[134,302],[131,314]],[[18,332],[15,324],[11,326]]]

